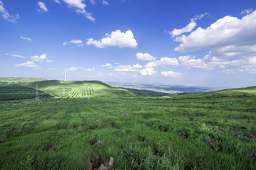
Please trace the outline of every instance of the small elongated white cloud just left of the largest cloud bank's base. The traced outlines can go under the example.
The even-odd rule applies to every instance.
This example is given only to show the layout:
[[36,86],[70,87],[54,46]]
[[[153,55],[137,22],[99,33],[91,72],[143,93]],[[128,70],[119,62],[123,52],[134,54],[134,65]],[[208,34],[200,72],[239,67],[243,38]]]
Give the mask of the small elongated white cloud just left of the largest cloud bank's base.
[[156,60],[155,62],[149,62],[145,67],[147,68],[156,68],[156,67],[166,67],[166,66],[174,66],[178,65],[178,60],[176,58],[168,58],[163,57],[160,60]]

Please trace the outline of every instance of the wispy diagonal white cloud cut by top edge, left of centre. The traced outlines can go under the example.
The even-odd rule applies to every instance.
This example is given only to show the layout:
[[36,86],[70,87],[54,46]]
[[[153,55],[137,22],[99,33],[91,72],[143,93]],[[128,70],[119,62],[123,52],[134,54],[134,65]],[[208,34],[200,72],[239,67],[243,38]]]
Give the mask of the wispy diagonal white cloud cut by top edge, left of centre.
[[82,14],[82,16],[85,16],[90,21],[94,22],[95,18],[92,17],[91,13],[87,13],[85,10],[85,3],[84,0],[63,0],[68,6],[75,8],[76,13]]

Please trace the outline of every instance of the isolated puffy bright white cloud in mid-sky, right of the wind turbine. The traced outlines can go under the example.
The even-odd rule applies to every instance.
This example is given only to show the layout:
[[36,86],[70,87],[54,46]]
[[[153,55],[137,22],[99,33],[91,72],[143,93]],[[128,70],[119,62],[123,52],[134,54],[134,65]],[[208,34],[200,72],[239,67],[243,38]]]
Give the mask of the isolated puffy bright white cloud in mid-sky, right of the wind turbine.
[[122,33],[121,30],[115,30],[110,35],[106,34],[106,37],[101,40],[93,40],[90,38],[87,40],[86,44],[95,45],[100,48],[108,46],[136,48],[138,45],[131,30],[127,30],[125,33]]

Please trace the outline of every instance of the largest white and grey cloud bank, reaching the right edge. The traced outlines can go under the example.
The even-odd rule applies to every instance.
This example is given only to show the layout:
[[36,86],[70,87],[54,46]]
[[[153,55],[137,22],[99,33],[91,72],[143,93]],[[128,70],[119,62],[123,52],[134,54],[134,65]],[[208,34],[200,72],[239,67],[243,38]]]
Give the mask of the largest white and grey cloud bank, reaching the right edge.
[[[249,13],[249,12],[248,12]],[[202,69],[239,67],[256,68],[256,11],[236,18],[225,16],[207,28],[197,28],[189,35],[175,38],[178,52],[209,49],[203,58],[181,56],[181,65]],[[229,69],[230,69],[229,68]]]

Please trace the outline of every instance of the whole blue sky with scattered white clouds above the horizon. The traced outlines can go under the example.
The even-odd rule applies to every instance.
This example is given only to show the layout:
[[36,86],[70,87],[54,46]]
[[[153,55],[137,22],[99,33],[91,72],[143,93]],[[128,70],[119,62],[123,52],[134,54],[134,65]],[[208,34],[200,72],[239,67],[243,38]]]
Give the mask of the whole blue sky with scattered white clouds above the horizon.
[[0,0],[0,77],[256,85],[256,1]]

